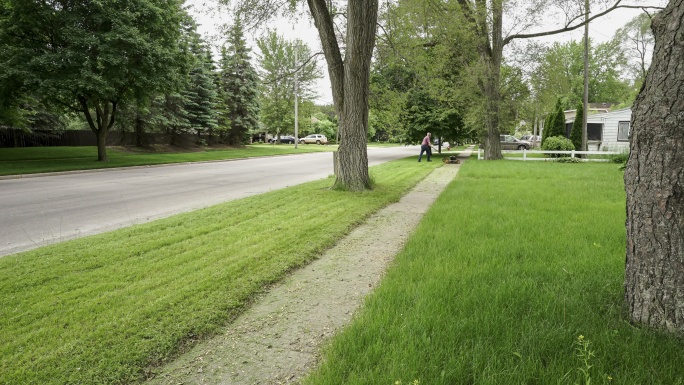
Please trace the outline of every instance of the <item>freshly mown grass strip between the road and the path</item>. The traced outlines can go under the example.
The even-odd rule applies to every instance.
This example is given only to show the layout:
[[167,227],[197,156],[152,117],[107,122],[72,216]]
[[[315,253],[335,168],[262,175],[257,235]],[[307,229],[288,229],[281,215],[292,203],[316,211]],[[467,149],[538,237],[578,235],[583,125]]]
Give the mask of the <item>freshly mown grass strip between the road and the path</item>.
[[0,384],[138,382],[440,165],[394,161],[371,168],[370,192],[329,178],[2,257]]

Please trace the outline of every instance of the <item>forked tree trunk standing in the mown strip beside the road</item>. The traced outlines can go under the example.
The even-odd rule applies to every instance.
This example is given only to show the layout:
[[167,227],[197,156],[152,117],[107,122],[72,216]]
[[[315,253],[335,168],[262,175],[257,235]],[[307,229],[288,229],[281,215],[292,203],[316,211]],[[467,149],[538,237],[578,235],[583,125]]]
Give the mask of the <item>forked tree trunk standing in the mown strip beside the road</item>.
[[325,0],[308,0],[308,4],[328,63],[333,102],[339,117],[340,147],[335,187],[361,191],[370,187],[366,135],[370,63],[375,45],[378,1],[348,2],[344,60]]

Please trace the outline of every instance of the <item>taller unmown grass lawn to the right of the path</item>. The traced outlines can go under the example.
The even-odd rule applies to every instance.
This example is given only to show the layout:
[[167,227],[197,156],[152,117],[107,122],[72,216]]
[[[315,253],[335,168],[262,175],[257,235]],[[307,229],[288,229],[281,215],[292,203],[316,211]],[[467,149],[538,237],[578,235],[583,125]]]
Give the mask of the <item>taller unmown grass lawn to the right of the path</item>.
[[615,164],[470,161],[306,384],[683,384],[623,318]]

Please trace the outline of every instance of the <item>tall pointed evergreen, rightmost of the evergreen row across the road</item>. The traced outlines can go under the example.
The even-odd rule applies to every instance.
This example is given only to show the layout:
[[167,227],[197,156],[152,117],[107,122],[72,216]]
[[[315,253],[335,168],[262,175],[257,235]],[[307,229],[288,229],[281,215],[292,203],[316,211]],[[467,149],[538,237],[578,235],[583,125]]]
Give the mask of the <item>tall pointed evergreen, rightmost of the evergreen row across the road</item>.
[[229,144],[245,143],[247,135],[259,127],[257,75],[249,54],[242,22],[238,18],[228,31],[228,48],[221,60],[223,124],[230,121],[226,135]]

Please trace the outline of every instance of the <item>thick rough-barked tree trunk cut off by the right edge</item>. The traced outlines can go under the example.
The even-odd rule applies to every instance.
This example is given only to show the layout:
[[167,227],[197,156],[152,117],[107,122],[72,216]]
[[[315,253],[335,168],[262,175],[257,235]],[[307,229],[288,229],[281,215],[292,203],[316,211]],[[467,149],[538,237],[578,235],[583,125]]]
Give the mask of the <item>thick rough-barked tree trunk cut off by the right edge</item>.
[[653,62],[632,110],[625,171],[630,321],[684,331],[684,0],[653,19]]

